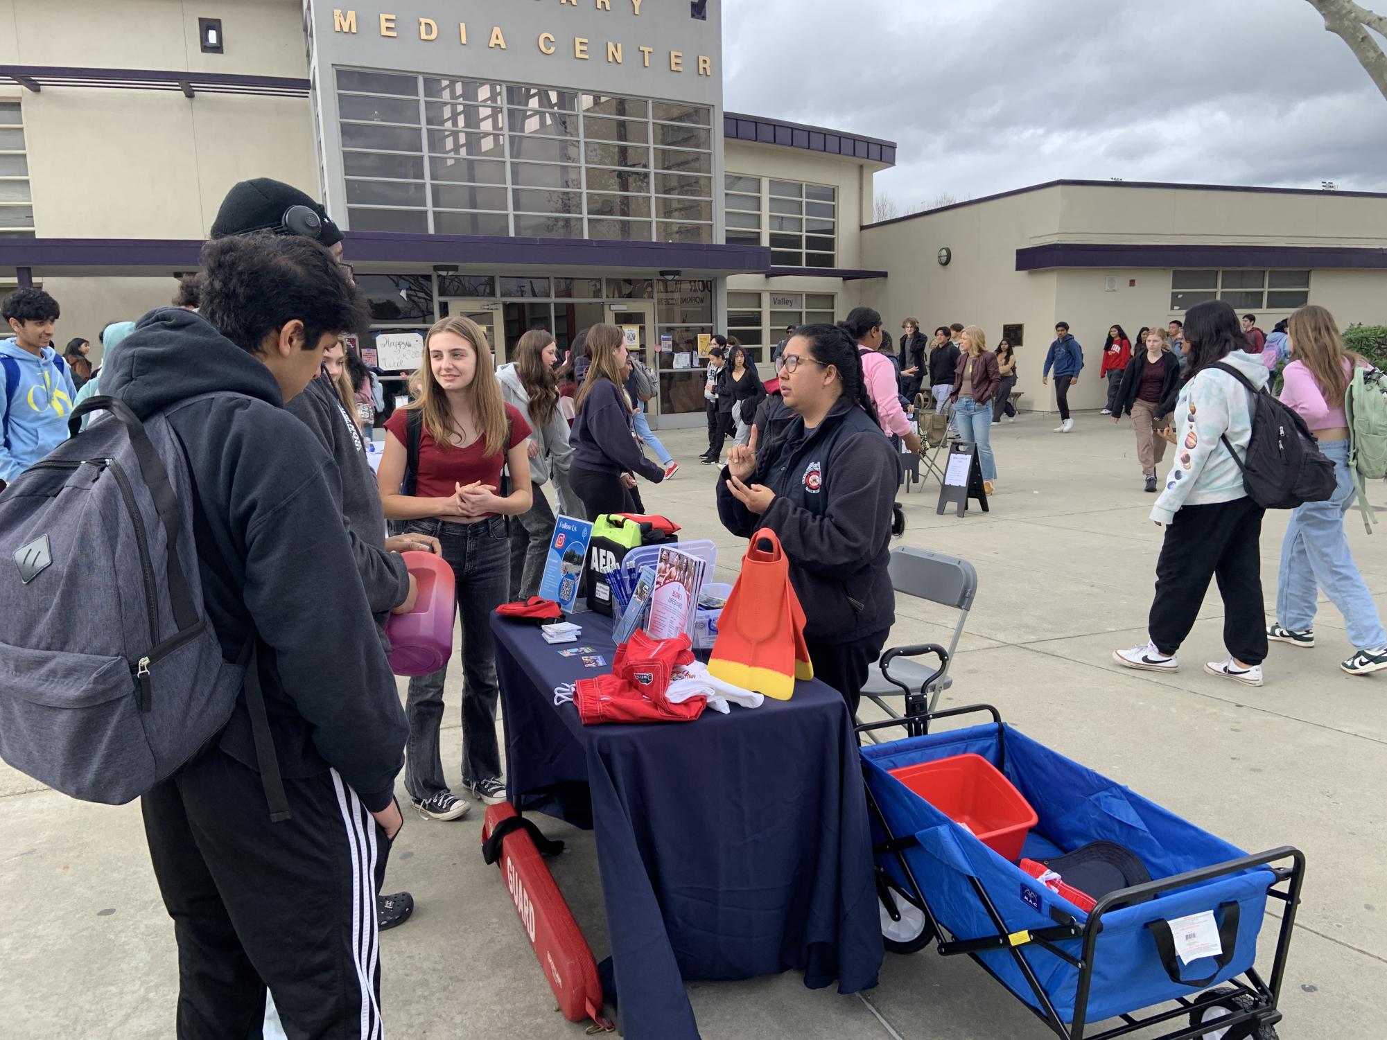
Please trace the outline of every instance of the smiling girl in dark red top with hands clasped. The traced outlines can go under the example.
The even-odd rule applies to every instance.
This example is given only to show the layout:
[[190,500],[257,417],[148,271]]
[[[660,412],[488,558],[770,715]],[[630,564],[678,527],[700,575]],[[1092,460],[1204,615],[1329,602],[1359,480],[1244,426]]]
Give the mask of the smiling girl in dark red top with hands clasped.
[[[508,516],[531,505],[530,424],[501,397],[487,334],[466,318],[447,318],[429,330],[419,369],[419,399],[386,420],[380,499],[386,516],[405,520],[406,532],[429,534],[442,546],[458,580],[462,614],[462,779],[483,801],[505,801],[497,747],[497,657],[491,612],[509,595]],[[408,416],[417,413],[419,459],[411,494],[401,494],[409,444]],[[502,495],[501,469],[510,471]],[[470,808],[454,797],[442,775],[438,728],[447,667],[409,681],[405,716],[405,789],[415,807],[434,820],[458,820]]]

